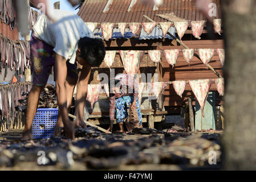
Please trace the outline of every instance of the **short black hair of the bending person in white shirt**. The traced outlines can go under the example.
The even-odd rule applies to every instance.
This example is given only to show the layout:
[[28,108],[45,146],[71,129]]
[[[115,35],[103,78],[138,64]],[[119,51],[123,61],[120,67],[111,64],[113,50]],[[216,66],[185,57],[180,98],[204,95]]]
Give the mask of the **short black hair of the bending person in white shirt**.
[[105,46],[102,40],[88,37],[81,38],[78,42],[81,57],[91,67],[99,67],[105,57]]

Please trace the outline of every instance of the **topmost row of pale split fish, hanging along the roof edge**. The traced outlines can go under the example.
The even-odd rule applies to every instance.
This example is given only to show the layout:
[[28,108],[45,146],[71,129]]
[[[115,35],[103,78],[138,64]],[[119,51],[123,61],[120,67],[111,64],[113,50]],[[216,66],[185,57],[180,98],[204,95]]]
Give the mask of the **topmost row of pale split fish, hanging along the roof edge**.
[[[214,19],[213,20],[213,27],[214,27],[214,31],[221,35],[221,19]],[[87,22],[86,23],[88,28],[94,32],[97,24],[96,22]],[[109,39],[112,38],[112,34],[113,34],[113,27],[115,26],[116,23],[101,23],[100,27],[101,27],[101,31],[102,31],[102,35],[103,38],[108,41]],[[157,26],[157,24],[160,25],[161,29],[162,29],[162,33],[165,37],[165,35],[168,33],[169,28],[174,24],[174,27],[176,27],[177,30],[177,34],[180,37],[180,39],[184,36],[186,30],[188,30],[188,27],[191,27],[192,30],[192,34],[194,35],[195,38],[197,39],[201,39],[200,36],[202,34],[202,31],[204,30],[204,25],[205,25],[205,20],[197,20],[197,21],[182,21],[182,22],[152,22],[152,23],[117,23],[119,31],[121,32],[121,35],[124,36],[125,33],[125,28],[127,27],[127,25],[129,26],[131,32],[133,33],[133,35],[140,35],[140,27],[143,27],[143,30],[147,33],[147,34],[151,34],[151,32],[153,31],[153,29]]]

